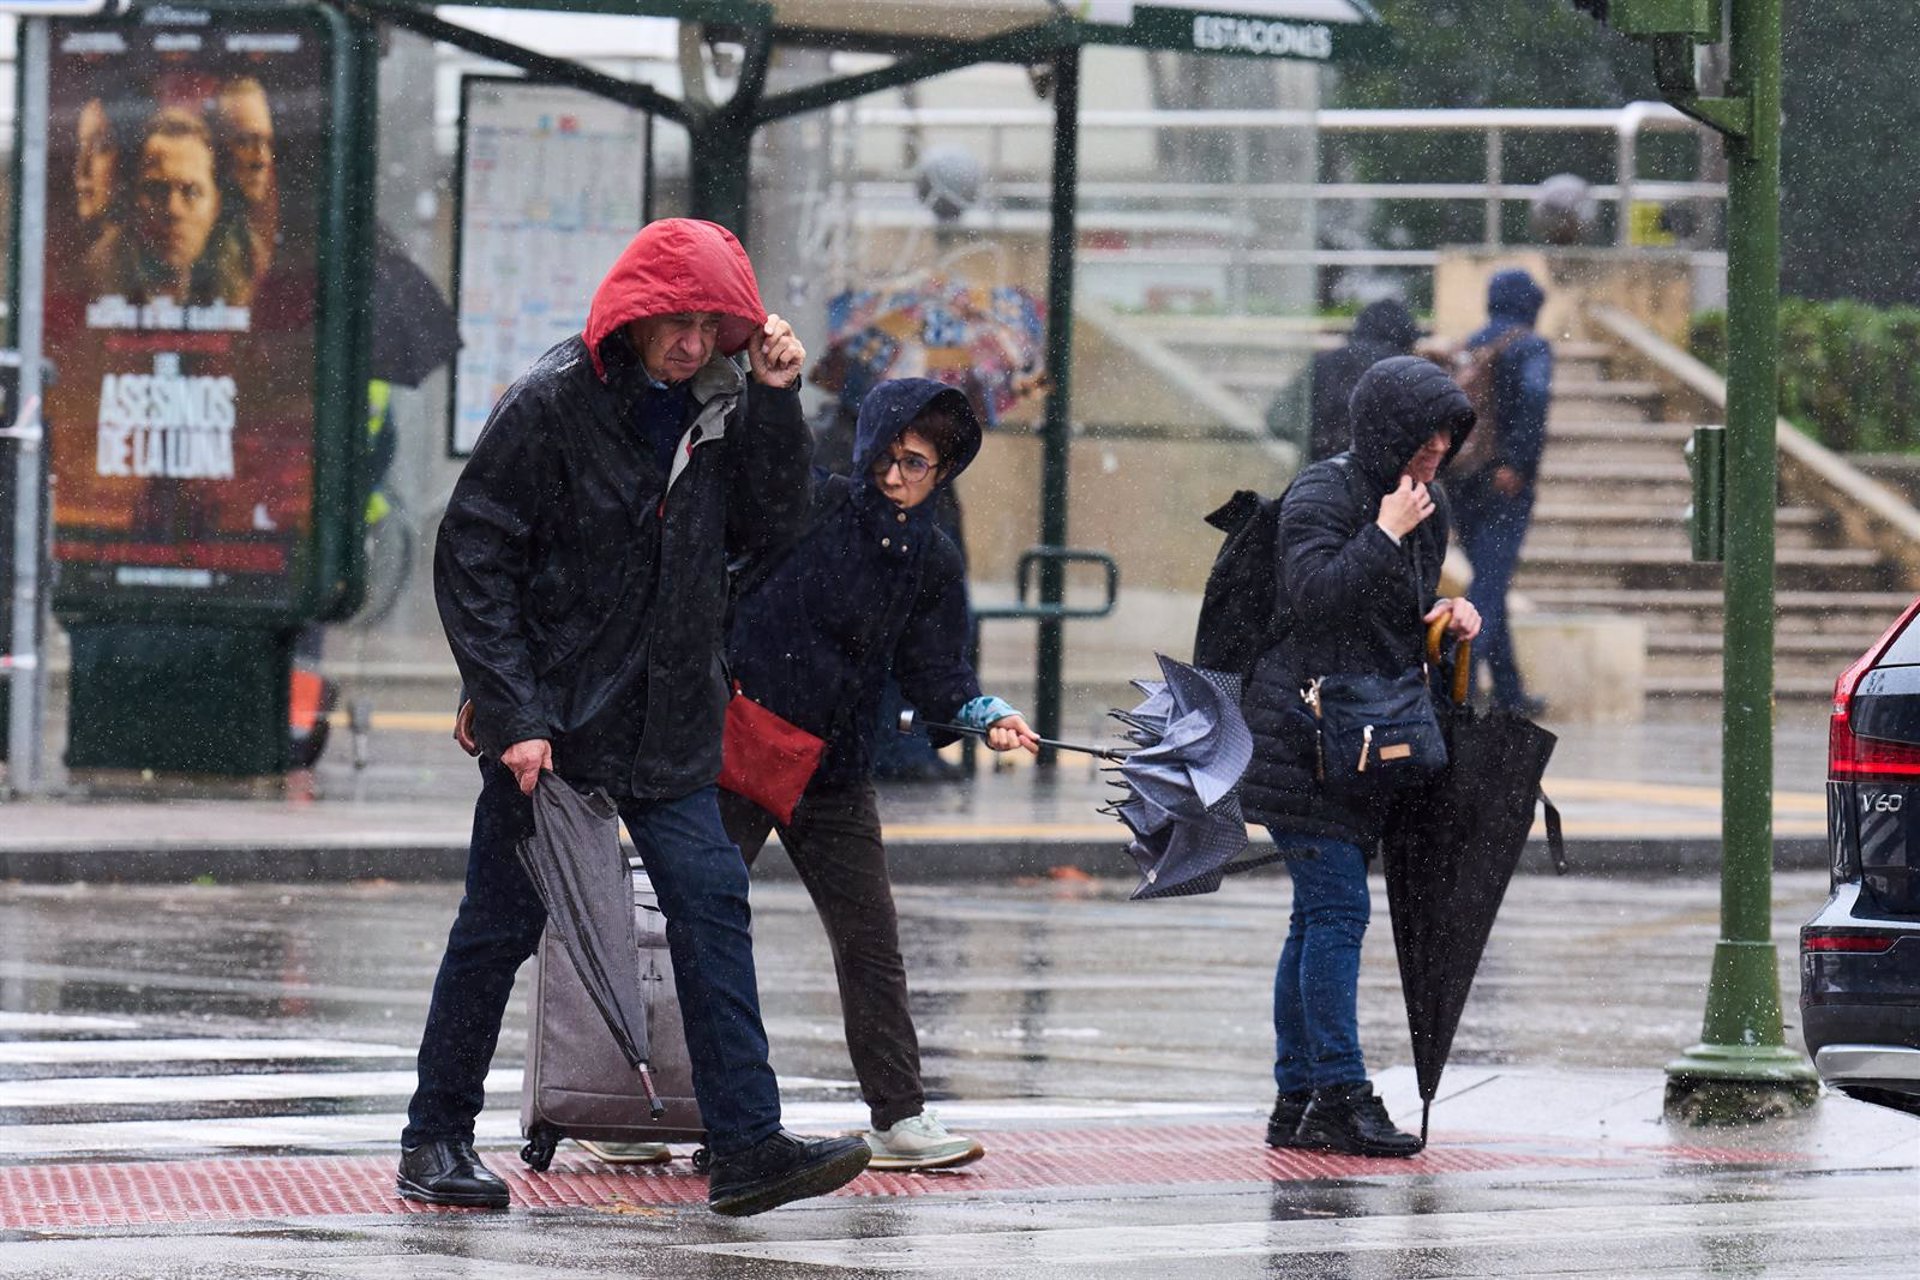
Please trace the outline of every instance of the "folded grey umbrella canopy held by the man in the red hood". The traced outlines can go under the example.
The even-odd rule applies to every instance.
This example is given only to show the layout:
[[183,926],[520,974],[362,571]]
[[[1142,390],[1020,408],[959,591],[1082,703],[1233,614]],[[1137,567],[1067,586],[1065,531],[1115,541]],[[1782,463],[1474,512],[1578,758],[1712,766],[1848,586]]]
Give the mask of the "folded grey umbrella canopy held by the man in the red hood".
[[620,814],[607,793],[580,794],[555,773],[540,775],[532,798],[534,835],[515,852],[620,1052],[645,1071],[647,1006]]

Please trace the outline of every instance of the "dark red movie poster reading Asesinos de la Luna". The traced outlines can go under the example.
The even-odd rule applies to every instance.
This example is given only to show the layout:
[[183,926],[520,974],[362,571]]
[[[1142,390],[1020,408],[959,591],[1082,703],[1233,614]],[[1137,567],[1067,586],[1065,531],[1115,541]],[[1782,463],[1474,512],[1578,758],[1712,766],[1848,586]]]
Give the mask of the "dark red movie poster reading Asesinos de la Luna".
[[54,23],[61,604],[292,606],[313,555],[328,58],[300,13]]

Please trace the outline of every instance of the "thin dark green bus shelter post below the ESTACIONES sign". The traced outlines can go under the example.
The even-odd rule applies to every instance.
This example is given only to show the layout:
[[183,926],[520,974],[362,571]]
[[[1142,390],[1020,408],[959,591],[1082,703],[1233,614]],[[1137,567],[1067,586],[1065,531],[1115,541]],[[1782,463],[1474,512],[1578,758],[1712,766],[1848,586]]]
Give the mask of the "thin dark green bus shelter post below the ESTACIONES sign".
[[[1046,422],[1041,428],[1041,543],[1068,543],[1068,443],[1073,405],[1073,248],[1075,200],[1079,190],[1079,46],[1054,56],[1054,190],[1052,228],[1046,236]],[[1041,603],[1066,599],[1066,566],[1041,562]],[[1060,668],[1064,658],[1062,624],[1041,624],[1039,656],[1033,670],[1033,725],[1041,737],[1060,737]],[[1041,748],[1041,764],[1052,766],[1056,752]]]

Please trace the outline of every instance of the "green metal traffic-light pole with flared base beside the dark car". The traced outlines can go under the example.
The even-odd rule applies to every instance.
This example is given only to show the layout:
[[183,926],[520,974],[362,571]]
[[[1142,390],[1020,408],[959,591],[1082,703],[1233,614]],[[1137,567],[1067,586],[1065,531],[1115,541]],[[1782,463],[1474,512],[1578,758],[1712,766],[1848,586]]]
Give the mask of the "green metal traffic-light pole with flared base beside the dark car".
[[1818,1082],[1786,1048],[1774,877],[1774,509],[1780,355],[1780,0],[1732,0],[1728,144],[1726,641],[1720,942],[1701,1044],[1667,1067],[1667,1113],[1741,1123],[1809,1105]]

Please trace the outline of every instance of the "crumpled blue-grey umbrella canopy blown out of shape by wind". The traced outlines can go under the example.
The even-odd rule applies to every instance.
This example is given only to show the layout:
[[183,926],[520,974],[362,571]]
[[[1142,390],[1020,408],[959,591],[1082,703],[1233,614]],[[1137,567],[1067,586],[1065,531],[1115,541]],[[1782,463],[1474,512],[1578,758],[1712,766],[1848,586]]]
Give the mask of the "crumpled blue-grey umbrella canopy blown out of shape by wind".
[[1125,794],[1108,810],[1133,833],[1133,898],[1212,892],[1246,848],[1235,787],[1254,758],[1254,735],[1240,716],[1240,681],[1158,658],[1165,679],[1135,681],[1146,700],[1114,712],[1139,745],[1112,770]]

